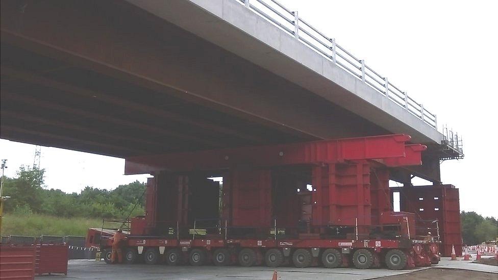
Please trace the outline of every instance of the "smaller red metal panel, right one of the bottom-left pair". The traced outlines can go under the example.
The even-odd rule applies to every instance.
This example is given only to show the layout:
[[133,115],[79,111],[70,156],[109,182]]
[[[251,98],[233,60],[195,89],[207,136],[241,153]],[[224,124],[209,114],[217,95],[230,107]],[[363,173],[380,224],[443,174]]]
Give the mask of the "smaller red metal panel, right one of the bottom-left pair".
[[67,244],[37,244],[35,273],[67,275]]

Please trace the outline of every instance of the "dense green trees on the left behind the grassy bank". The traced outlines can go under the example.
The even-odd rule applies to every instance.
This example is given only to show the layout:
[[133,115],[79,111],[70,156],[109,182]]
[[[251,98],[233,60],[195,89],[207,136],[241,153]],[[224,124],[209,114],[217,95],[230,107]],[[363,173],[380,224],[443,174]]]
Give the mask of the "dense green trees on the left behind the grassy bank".
[[[4,178],[4,211],[14,214],[46,214],[58,217],[126,218],[143,215],[145,184],[135,181],[113,190],[85,187],[65,193],[44,185],[44,169],[21,166],[13,178]],[[138,203],[137,203],[138,202]]]

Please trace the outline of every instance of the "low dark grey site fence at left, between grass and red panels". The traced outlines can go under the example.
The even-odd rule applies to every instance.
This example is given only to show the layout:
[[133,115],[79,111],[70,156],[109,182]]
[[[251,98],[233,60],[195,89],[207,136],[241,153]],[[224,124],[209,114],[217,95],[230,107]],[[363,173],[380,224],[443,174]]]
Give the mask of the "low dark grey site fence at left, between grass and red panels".
[[34,244],[67,244],[68,260],[94,259],[97,252],[94,248],[85,247],[82,236],[3,236],[2,245],[34,245]]

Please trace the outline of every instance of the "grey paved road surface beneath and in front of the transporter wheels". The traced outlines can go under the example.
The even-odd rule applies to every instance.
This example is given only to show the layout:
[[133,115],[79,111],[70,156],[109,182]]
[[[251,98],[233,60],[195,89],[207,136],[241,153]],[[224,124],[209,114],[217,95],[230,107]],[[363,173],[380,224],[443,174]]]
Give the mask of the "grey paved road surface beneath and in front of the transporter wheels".
[[[472,264],[464,261],[442,260],[432,267],[461,268],[484,272],[498,273],[498,268],[483,264]],[[425,268],[413,270],[388,270],[323,267],[294,268],[279,267],[279,279],[371,279],[383,276],[399,275]],[[74,260],[68,263],[68,275],[39,276],[38,279],[271,279],[273,269],[269,267],[237,267],[237,266],[167,266],[167,265],[108,265],[94,260]],[[498,274],[496,275],[498,277]]]

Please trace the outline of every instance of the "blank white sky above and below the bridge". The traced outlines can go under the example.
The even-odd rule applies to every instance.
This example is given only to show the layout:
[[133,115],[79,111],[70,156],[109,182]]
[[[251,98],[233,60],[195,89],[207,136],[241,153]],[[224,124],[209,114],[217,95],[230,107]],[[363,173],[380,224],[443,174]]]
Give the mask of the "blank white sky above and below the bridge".
[[[446,161],[442,181],[460,189],[460,208],[498,217],[495,172],[498,90],[497,1],[281,0],[308,23],[463,136],[465,159]],[[32,145],[0,140],[8,176],[32,165]],[[49,188],[112,189],[148,175],[122,175],[124,161],[42,147]],[[7,195],[7,194],[6,194]]]

